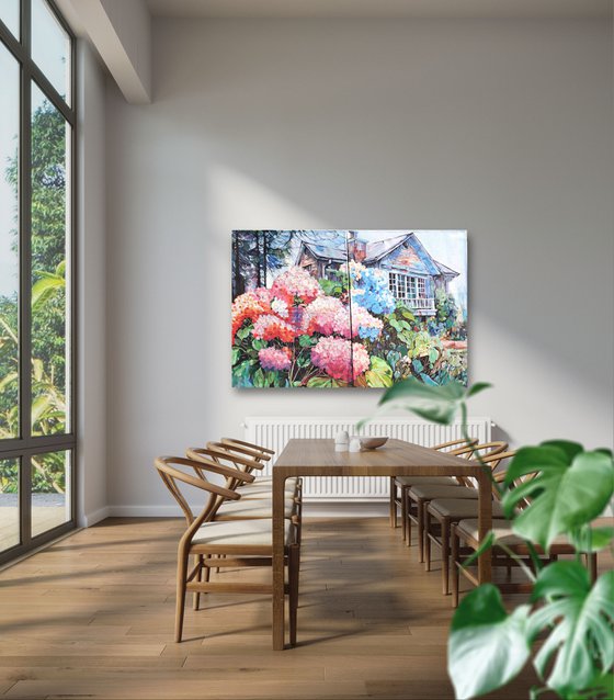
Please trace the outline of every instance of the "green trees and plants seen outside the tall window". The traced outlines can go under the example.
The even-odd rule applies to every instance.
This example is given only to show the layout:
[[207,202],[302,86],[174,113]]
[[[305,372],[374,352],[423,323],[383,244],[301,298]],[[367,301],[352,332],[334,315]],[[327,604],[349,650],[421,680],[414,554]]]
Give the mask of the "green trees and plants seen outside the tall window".
[[[4,172],[18,189],[16,156]],[[32,434],[67,430],[66,123],[45,101],[32,117]],[[15,212],[16,222],[16,212]],[[16,225],[13,232],[18,247]],[[0,296],[0,439],[19,436],[18,298]],[[33,489],[65,489],[60,453],[33,460]],[[8,484],[0,466],[0,484]]]

